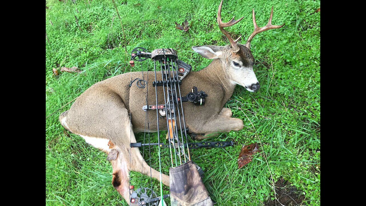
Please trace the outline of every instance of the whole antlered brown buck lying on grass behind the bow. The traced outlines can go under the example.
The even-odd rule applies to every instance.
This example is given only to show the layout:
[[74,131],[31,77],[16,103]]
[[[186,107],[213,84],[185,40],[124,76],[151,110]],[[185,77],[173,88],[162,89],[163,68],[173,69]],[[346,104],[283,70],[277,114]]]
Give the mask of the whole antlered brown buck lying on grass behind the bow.
[[[212,59],[212,62],[202,70],[191,71],[180,87],[183,93],[188,93],[192,85],[198,85],[208,94],[204,106],[195,106],[189,102],[183,104],[186,127],[191,133],[197,134],[195,139],[243,129],[242,119],[232,117],[231,109],[225,108],[224,105],[231,98],[236,85],[250,92],[258,91],[260,85],[253,71],[254,57],[251,54],[250,42],[258,33],[284,26],[272,25],[272,7],[267,25],[258,27],[253,9],[254,31],[246,44],[239,44],[241,36],[234,40],[224,27],[235,25],[244,16],[238,20],[235,20],[234,16],[229,22],[222,22],[222,4],[223,0],[217,11],[217,22],[230,44],[193,46],[193,51],[203,58]],[[145,129],[145,111],[142,110],[142,106],[146,103],[146,96],[143,95],[146,94],[146,88],[129,87],[131,78],[141,78],[141,75],[141,71],[130,72],[97,82],[76,98],[69,110],[59,115],[59,121],[65,129],[107,153],[107,160],[111,161],[113,168],[112,185],[127,202],[130,198],[130,170],[142,171],[147,176],[160,179],[160,173],[153,168],[150,170],[139,149],[130,147],[131,142],[136,142],[134,134]],[[144,71],[143,75],[147,84],[154,81],[152,72]],[[150,89],[147,92],[147,102],[155,101],[154,90]],[[157,98],[163,99],[163,90],[157,90]],[[154,115],[154,111],[147,112],[151,113],[151,116]],[[160,130],[168,129],[167,125],[163,124],[164,119],[152,118],[149,119],[149,132],[157,131],[157,121],[162,121],[159,124]],[[169,186],[169,176],[163,174],[162,182]]]

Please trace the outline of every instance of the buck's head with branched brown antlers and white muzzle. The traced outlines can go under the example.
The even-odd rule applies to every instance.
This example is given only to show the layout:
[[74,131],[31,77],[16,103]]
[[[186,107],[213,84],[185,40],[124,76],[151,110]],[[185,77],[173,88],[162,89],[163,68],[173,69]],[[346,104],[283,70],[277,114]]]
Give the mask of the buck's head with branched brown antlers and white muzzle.
[[253,71],[254,58],[250,51],[250,41],[253,37],[261,33],[263,31],[269,29],[277,29],[283,25],[272,25],[272,15],[273,15],[273,6],[271,10],[271,14],[269,16],[269,21],[266,26],[258,27],[257,22],[255,22],[255,15],[253,9],[253,24],[254,31],[249,36],[245,45],[239,44],[237,38],[234,40],[230,34],[224,29],[224,27],[232,26],[238,23],[240,20],[244,18],[244,16],[238,20],[235,20],[234,17],[229,22],[221,21],[221,7],[223,4],[223,0],[219,5],[219,10],[217,11],[217,22],[219,23],[219,28],[222,33],[228,38],[230,45],[226,46],[214,46],[214,45],[205,45],[205,46],[195,46],[192,49],[207,59],[220,59],[222,62],[222,67],[224,69],[225,74],[227,74],[232,84],[239,84],[245,87],[250,92],[258,91],[260,85],[257,80],[257,77]]

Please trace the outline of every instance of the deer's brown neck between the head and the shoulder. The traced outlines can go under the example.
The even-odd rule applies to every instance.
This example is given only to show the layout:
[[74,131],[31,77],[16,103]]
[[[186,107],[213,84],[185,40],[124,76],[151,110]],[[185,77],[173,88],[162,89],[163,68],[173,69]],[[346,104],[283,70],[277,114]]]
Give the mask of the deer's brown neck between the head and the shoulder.
[[206,79],[219,85],[224,92],[223,104],[225,104],[234,92],[236,84],[230,80],[225,67],[220,59],[214,59],[207,67],[199,71]]

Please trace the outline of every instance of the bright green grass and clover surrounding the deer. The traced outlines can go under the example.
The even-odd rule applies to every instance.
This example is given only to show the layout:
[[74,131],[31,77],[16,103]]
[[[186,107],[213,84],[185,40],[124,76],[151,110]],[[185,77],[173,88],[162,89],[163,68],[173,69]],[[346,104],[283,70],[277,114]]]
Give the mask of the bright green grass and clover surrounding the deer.
[[[175,48],[179,58],[193,70],[204,68],[211,60],[194,53],[191,47],[228,44],[216,22],[219,3],[116,1],[127,51],[137,46],[150,51]],[[46,5],[48,116],[94,83],[131,68],[129,59],[125,61],[122,29],[111,0],[92,0],[90,4],[87,0],[75,4],[53,0]],[[237,86],[226,105],[233,117],[243,119],[244,129],[210,139],[233,139],[236,145],[191,151],[194,161],[205,170],[203,181],[217,205],[261,205],[273,198],[272,177],[274,182],[283,177],[305,194],[309,205],[320,205],[320,12],[314,12],[320,1],[248,0],[238,4],[225,0],[222,18],[229,21],[233,15],[244,16],[227,30],[234,38],[242,34],[245,40],[253,31],[251,9],[255,10],[258,25],[264,26],[272,5],[272,23],[285,26],[260,33],[251,43],[261,89],[251,93]],[[184,19],[193,21],[186,33],[175,29],[174,23]],[[57,66],[77,66],[82,73],[56,77],[52,68]],[[106,155],[82,137],[64,132],[58,115],[70,106],[46,118],[46,205],[127,205],[111,185],[112,166]],[[137,135],[137,140],[143,141],[143,136]],[[152,141],[157,141],[156,134]],[[262,143],[263,153],[238,170],[242,145],[254,142]],[[151,165],[158,169],[156,149],[152,151]],[[144,155],[149,163],[146,150]],[[169,159],[162,161],[163,172],[168,173]],[[139,173],[132,172],[131,176],[132,184],[140,184]],[[148,185],[148,180],[145,176],[142,184]],[[158,192],[158,181],[153,180],[153,185]],[[164,190],[168,193],[169,188]]]

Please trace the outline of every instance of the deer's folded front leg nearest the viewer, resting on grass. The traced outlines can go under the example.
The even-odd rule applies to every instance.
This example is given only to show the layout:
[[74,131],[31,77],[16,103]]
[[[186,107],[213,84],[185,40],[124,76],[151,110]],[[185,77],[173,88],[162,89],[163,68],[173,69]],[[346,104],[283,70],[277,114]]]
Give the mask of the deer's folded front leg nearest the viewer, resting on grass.
[[[216,136],[218,132],[229,132],[231,130],[238,131],[243,129],[243,127],[244,124],[241,119],[216,114],[213,118],[206,121],[201,128],[190,128],[190,130],[191,132],[198,134],[194,139],[205,139]],[[204,135],[202,135],[202,133]]]

